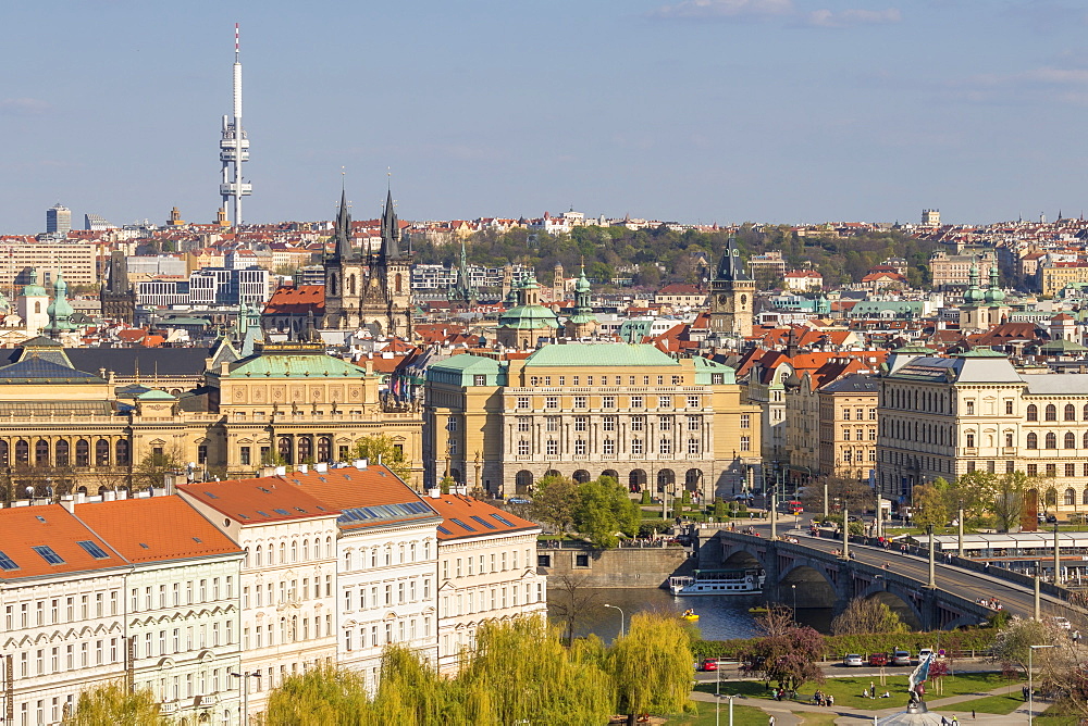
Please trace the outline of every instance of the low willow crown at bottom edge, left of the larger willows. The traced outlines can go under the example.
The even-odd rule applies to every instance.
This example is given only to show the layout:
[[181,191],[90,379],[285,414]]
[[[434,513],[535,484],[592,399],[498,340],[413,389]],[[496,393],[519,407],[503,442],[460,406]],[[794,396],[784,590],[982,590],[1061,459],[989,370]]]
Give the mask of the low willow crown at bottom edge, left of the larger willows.
[[269,697],[265,726],[369,724],[372,717],[362,674],[321,666],[286,678]]

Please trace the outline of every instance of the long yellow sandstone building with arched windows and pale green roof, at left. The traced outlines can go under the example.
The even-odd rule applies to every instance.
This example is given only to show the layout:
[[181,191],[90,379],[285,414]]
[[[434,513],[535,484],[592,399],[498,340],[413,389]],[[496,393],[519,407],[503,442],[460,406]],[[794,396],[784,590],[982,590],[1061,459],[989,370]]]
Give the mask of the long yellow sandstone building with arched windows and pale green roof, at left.
[[28,340],[0,366],[0,473],[20,497],[27,487],[97,491],[138,487],[149,461],[249,475],[262,463],[338,461],[362,437],[384,434],[420,485],[421,417],[386,410],[369,365],[308,343],[222,352],[207,360],[199,387],[175,396],[120,386],[104,367],[76,368],[60,343]]

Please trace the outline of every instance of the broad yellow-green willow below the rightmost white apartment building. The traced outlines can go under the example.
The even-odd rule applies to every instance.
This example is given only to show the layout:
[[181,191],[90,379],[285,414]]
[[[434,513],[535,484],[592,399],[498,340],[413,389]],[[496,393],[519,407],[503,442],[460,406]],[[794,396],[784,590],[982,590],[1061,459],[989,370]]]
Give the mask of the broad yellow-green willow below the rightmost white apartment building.
[[481,726],[605,724],[613,713],[608,674],[537,617],[481,625],[457,684],[462,702],[475,704],[467,723]]

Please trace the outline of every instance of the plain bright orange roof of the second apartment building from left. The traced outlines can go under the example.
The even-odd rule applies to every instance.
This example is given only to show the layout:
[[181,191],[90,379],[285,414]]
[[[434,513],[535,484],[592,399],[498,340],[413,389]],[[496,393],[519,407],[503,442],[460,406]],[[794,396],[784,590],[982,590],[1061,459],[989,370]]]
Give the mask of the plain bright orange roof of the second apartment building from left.
[[242,551],[181,497],[76,504],[75,516],[129,562]]

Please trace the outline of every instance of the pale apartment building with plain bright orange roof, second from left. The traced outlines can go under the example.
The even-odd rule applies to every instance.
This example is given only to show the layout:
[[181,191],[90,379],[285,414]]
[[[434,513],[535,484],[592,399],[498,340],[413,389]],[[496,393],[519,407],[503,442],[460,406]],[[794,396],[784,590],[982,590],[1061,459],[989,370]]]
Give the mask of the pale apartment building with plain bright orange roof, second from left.
[[124,616],[135,687],[171,718],[240,724],[230,674],[240,663],[244,552],[180,497],[82,499],[66,505],[132,565]]

